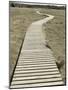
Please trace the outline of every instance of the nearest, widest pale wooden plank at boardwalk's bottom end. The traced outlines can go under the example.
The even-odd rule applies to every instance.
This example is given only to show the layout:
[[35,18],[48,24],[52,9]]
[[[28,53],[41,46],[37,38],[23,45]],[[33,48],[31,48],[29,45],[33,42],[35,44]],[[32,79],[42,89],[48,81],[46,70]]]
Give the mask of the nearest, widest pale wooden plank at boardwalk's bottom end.
[[26,84],[26,85],[12,85],[10,88],[31,88],[31,87],[41,87],[41,86],[56,86],[56,85],[63,85],[62,81],[56,82],[47,82],[47,83],[34,83],[34,84]]

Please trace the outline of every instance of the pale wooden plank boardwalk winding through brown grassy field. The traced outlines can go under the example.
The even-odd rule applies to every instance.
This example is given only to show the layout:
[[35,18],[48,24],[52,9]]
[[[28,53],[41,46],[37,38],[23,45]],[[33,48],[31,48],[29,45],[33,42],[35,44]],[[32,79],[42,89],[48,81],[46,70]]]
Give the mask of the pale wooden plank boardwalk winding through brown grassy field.
[[10,88],[63,85],[52,51],[45,46],[42,24],[47,18],[32,23],[26,33]]

